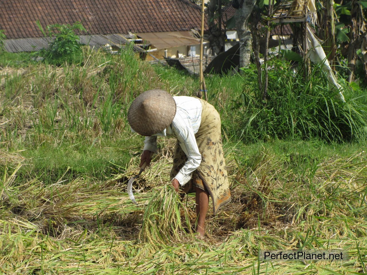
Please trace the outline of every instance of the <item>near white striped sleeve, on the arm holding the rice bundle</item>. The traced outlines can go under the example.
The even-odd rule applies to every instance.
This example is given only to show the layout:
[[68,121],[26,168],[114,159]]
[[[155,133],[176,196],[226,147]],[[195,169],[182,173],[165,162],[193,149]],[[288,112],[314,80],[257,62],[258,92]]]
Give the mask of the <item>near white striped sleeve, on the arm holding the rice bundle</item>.
[[186,122],[180,115],[176,115],[171,124],[172,132],[177,137],[182,150],[187,156],[187,161],[174,177],[181,186],[191,179],[191,173],[199,167],[201,154],[196,144],[192,125]]

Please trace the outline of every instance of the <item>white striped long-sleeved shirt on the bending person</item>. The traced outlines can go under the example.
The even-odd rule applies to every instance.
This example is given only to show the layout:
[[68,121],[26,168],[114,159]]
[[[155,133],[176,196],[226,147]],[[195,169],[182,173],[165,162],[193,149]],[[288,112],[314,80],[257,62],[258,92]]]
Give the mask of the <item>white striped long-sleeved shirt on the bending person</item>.
[[191,179],[192,172],[199,167],[201,162],[195,134],[200,127],[202,106],[199,99],[190,96],[174,96],[173,98],[176,102],[176,114],[172,123],[163,131],[145,137],[144,150],[157,152],[157,136],[176,137],[188,158],[174,177],[183,186]]

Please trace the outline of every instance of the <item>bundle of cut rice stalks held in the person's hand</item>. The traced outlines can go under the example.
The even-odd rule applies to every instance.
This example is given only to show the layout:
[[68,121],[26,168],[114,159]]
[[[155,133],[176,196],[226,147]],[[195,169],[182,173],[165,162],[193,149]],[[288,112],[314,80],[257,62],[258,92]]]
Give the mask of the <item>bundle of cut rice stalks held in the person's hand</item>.
[[[180,208],[183,209],[183,224]],[[149,243],[167,243],[179,240],[184,232],[191,232],[189,214],[171,185],[153,191],[146,206],[139,238]]]

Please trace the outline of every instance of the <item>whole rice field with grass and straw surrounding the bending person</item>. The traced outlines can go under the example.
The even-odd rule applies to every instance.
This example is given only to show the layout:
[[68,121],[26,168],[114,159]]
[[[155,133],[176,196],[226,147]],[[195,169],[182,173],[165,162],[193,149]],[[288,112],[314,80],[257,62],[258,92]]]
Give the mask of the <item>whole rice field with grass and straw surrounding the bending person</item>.
[[[195,96],[195,76],[130,52],[0,68],[0,274],[366,274],[366,90],[338,102],[319,68],[284,65],[259,102],[256,76],[208,76],[222,118],[232,202],[193,234],[195,194],[170,186],[175,140],[138,173],[143,137],[127,110],[141,92]],[[302,74],[302,73],[301,73]],[[303,75],[303,74],[302,74]],[[211,202],[210,202],[211,203]],[[343,251],[343,261],[264,261],[264,251]]]

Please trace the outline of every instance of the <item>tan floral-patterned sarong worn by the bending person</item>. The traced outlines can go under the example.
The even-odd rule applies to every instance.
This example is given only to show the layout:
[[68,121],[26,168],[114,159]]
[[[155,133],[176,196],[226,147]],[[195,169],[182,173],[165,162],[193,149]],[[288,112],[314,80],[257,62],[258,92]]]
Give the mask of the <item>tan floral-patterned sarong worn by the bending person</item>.
[[[203,109],[201,122],[195,134],[197,147],[201,154],[200,166],[193,172],[191,180],[182,187],[185,193],[195,192],[193,187],[207,191],[213,202],[214,215],[218,210],[230,202],[230,190],[226,163],[222,148],[221,118],[215,108],[200,99]],[[171,180],[185,164],[187,157],[176,142]]]

